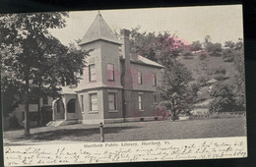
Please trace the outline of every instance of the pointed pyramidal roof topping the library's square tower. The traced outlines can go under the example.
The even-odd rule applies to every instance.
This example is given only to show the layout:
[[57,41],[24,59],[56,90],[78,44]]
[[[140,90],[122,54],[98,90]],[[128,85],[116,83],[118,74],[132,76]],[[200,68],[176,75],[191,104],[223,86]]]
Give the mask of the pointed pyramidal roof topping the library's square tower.
[[100,13],[97,14],[95,21],[84,35],[79,45],[90,43],[98,39],[121,44],[112,29],[105,23]]

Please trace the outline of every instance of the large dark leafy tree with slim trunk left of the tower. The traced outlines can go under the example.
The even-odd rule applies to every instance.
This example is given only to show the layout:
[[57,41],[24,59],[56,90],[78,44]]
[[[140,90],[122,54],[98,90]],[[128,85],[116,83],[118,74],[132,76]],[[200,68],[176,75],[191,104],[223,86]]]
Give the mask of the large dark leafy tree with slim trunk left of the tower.
[[67,17],[65,12],[0,16],[1,91],[13,85],[24,94],[26,137],[30,137],[30,100],[59,95],[63,80],[77,83],[75,73],[89,53],[64,46],[49,33],[48,28],[64,28]]

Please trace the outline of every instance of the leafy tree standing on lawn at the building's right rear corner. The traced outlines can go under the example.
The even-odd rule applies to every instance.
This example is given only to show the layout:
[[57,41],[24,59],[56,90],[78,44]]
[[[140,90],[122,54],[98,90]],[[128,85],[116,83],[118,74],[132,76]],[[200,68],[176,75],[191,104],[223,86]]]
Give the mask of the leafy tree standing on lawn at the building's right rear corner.
[[176,59],[171,57],[168,59],[169,63],[165,64],[162,82],[158,86],[157,93],[160,95],[160,106],[171,111],[174,121],[179,112],[188,111],[194,94],[191,93],[192,87],[188,88],[188,83],[192,81],[192,74]]

